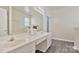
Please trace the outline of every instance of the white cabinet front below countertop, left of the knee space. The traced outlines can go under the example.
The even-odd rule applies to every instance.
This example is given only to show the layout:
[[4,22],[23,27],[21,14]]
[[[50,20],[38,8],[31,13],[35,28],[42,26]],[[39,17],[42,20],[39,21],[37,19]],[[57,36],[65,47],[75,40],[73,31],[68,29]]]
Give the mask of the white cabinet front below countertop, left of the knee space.
[[35,43],[31,42],[25,44],[19,48],[9,51],[9,53],[35,53]]

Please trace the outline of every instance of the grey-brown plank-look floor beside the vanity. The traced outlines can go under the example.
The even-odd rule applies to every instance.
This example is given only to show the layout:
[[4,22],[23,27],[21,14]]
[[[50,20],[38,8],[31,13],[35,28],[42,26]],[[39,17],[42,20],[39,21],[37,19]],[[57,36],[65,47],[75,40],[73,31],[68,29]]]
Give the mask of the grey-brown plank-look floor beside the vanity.
[[[73,49],[74,43],[67,41],[54,40],[52,45],[47,50],[46,53],[79,53],[79,51]],[[42,53],[41,51],[36,51],[36,53]]]

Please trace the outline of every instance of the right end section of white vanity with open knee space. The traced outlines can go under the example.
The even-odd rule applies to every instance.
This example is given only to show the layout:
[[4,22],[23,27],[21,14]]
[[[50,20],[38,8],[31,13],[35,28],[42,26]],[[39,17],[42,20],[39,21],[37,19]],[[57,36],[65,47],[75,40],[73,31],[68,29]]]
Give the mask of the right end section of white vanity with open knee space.
[[36,41],[36,50],[46,52],[47,49],[51,46],[51,43],[51,36],[48,34]]

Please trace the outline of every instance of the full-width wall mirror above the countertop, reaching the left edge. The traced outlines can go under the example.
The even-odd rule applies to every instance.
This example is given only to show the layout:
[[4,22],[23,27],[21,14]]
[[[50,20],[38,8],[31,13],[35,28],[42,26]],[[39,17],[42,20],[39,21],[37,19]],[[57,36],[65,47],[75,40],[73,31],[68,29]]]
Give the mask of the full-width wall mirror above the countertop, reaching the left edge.
[[0,6],[0,36],[9,35],[10,28],[12,34],[28,32],[31,23],[34,29],[37,29],[38,31],[43,30],[43,15],[36,11],[33,7],[31,7],[30,10],[31,15],[29,15],[29,9],[27,6],[11,6],[10,24],[9,7],[10,6]]

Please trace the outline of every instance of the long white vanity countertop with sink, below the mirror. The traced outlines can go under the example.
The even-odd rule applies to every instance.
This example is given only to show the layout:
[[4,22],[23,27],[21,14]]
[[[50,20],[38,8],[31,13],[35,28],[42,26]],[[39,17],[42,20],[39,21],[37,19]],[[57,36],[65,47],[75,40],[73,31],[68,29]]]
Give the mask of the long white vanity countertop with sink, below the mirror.
[[[36,40],[49,35],[50,33],[44,32],[44,33],[37,33],[35,35],[28,35],[26,33],[24,34],[19,34],[19,35],[14,35],[15,41],[13,42],[8,42],[5,40],[4,43],[0,43],[0,52],[5,53],[12,51],[14,49],[17,49],[23,45],[30,44],[31,42],[35,42]],[[10,36],[11,38],[11,36]],[[7,39],[7,38],[6,38]]]

